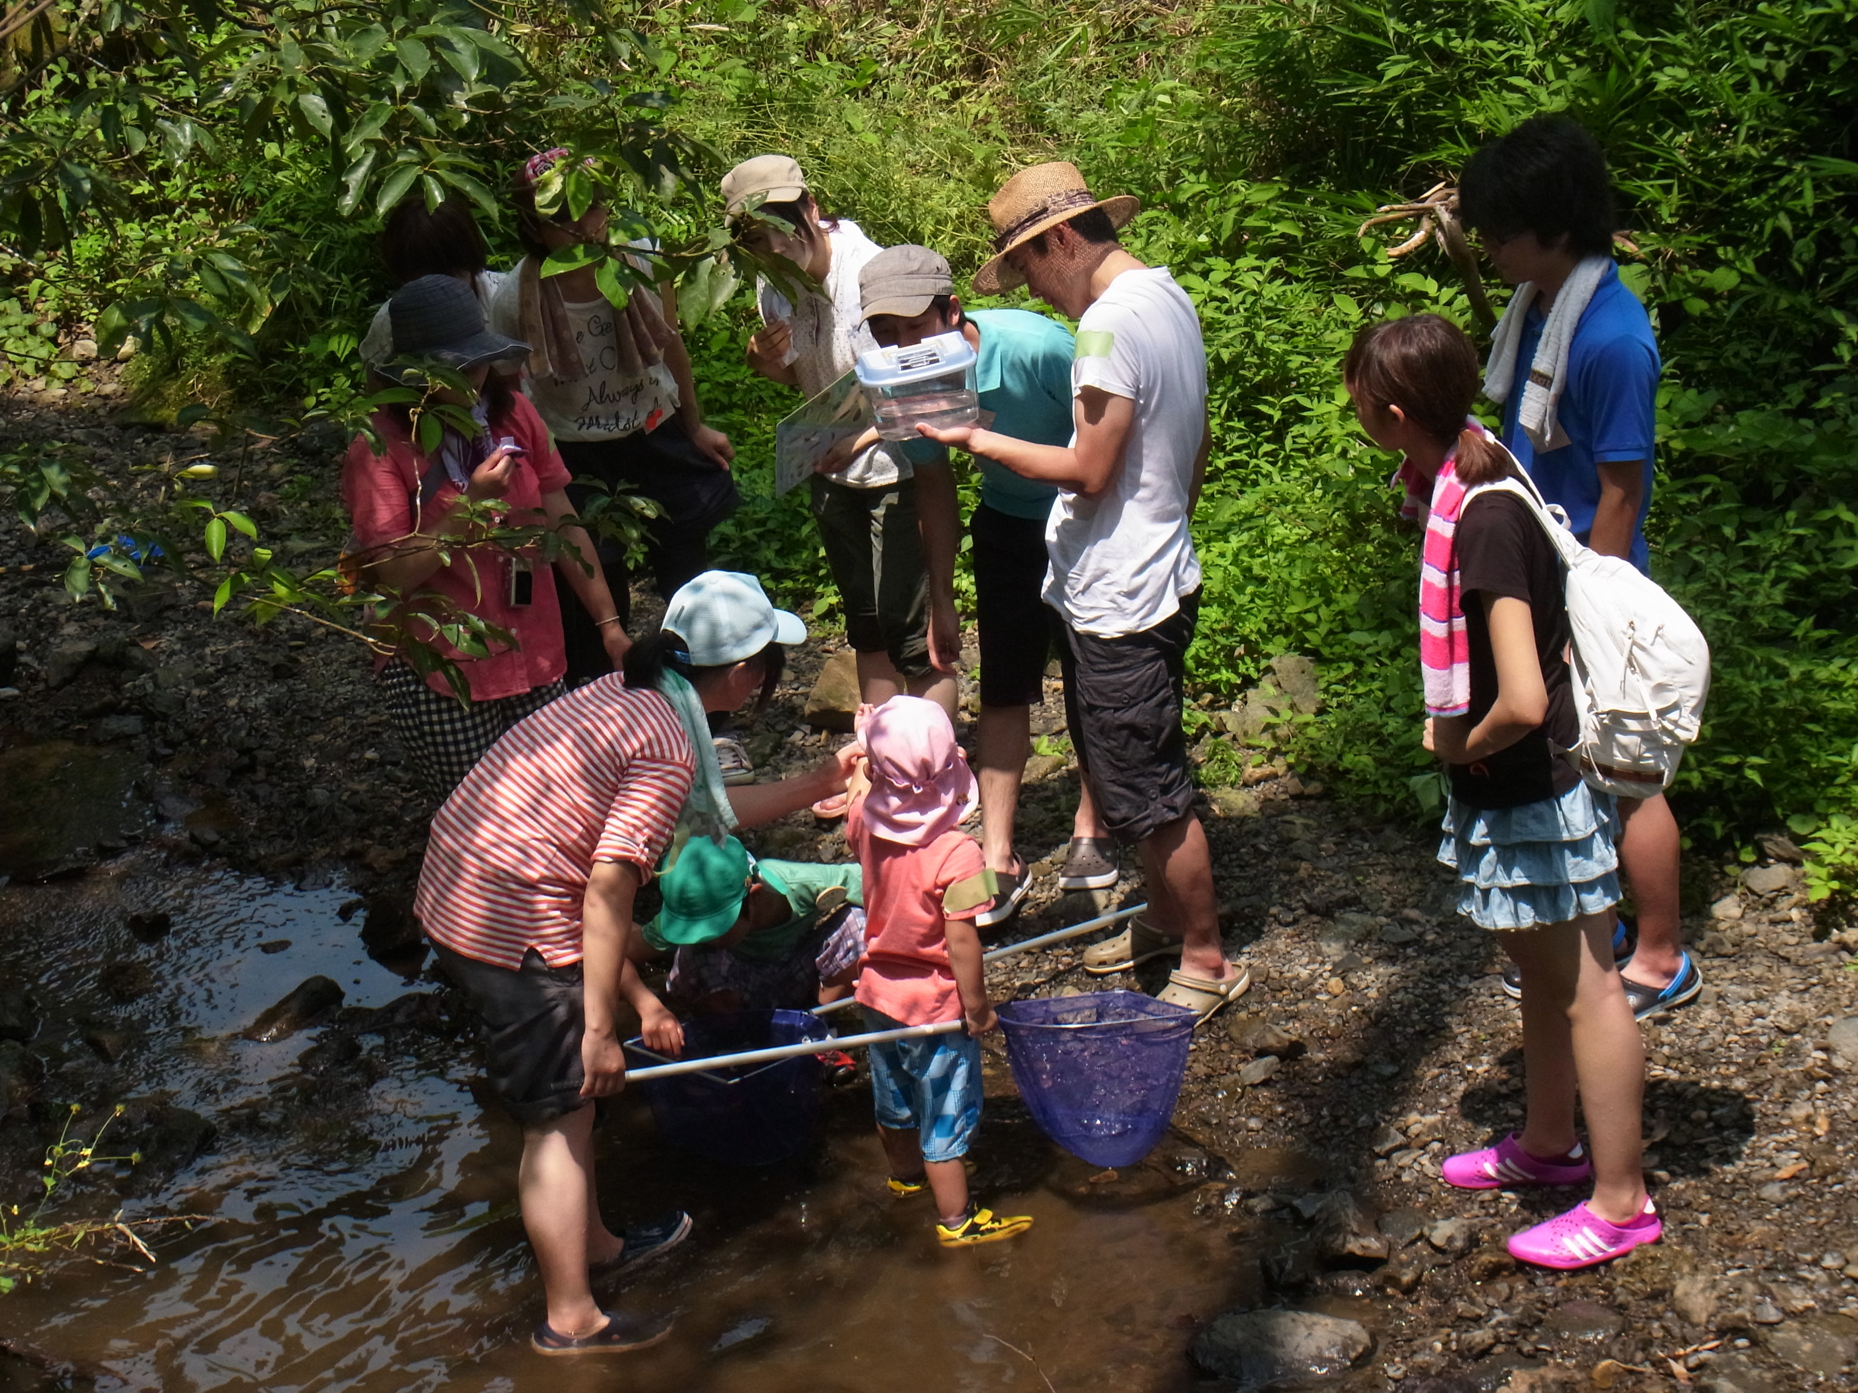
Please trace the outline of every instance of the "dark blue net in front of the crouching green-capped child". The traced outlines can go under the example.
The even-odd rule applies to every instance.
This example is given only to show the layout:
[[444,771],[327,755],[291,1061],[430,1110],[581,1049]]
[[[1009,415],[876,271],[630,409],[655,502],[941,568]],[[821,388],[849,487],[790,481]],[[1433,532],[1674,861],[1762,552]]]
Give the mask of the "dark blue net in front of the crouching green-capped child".
[[[684,1022],[682,1059],[829,1038],[831,1027],[805,1010],[697,1016]],[[647,1055],[639,1062],[660,1061]],[[641,1087],[667,1142],[725,1166],[779,1165],[805,1150],[819,1126],[819,1061],[812,1055],[674,1074]]]

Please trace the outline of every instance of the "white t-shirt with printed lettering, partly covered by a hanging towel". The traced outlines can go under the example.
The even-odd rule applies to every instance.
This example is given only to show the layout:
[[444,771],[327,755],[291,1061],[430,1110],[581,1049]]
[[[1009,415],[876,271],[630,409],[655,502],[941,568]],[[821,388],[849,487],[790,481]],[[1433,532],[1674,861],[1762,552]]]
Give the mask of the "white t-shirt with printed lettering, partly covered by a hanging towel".
[[[635,290],[634,293],[654,293]],[[613,306],[606,297],[563,299],[587,375],[578,383],[533,377],[522,368],[522,390],[556,440],[619,440],[634,431],[656,431],[678,409],[671,364],[658,362],[637,377],[617,371]],[[511,273],[491,299],[491,329],[522,338],[522,277]]]

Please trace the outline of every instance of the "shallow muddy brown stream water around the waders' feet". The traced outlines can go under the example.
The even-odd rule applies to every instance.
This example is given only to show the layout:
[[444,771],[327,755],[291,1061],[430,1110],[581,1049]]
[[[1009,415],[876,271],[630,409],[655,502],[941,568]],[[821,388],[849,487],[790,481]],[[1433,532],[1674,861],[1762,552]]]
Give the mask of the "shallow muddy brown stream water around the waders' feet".
[[[474,1094],[472,1051],[396,1036],[370,1044],[373,1083],[308,1081],[295,1061],[316,1031],[230,1038],[316,973],[351,1007],[420,990],[359,951],[347,899],[340,886],[177,879],[134,862],[0,890],[0,975],[45,1005],[33,1049],[56,1087],[84,1101],[160,1096],[219,1133],[128,1202],[214,1224],[164,1244],[147,1274],[71,1265],[0,1298],[9,1335],[108,1371],[98,1386],[164,1393],[914,1393],[1044,1378],[1063,1393],[1161,1393],[1198,1386],[1184,1354],[1195,1319],[1256,1296],[1256,1254],[1193,1217],[1191,1178],[1152,1166],[1093,1185],[1093,1168],[1024,1118],[992,1059],[975,1187],[1037,1228],[961,1254],[935,1246],[925,1200],[884,1194],[864,1088],[832,1094],[819,1146],[771,1172],[671,1152],[643,1101],[621,1100],[602,1131],[608,1217],[682,1205],[697,1231],[619,1300],[674,1311],[678,1328],[647,1354],[544,1361],[526,1345],[539,1302],[513,1207],[520,1137]],[[124,914],[156,908],[173,932],[136,942]],[[152,990],[126,1005],[98,986],[123,960],[152,971]],[[130,1031],[119,1062],[84,1044],[97,1023]]]

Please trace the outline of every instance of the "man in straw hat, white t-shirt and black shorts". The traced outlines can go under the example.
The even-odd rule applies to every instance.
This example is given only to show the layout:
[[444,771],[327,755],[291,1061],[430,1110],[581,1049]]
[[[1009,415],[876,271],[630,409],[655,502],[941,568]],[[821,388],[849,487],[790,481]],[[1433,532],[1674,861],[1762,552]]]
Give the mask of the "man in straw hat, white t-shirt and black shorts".
[[1085,953],[1085,970],[1117,973],[1178,951],[1161,999],[1204,1018],[1250,986],[1219,942],[1213,864],[1180,723],[1200,607],[1187,518],[1211,448],[1206,347],[1174,277],[1117,241],[1137,206],[1093,197],[1068,163],[1024,169],[987,204],[996,254],[974,288],[1026,284],[1078,316],[1070,444],[918,429],[1059,488],[1044,598],[1065,618],[1066,715],[1098,814],[1141,853],[1150,903],[1128,931]]

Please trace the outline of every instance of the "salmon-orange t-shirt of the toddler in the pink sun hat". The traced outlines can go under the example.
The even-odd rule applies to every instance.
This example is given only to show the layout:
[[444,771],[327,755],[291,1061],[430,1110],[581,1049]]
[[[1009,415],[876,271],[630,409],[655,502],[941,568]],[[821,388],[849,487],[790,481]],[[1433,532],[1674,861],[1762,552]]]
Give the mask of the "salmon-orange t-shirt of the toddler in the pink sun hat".
[[981,843],[966,832],[944,832],[923,847],[886,841],[866,827],[862,797],[845,817],[845,841],[864,871],[858,1003],[905,1025],[961,1020],[961,992],[948,966],[942,919],[972,919],[990,901],[948,910],[942,895],[987,867]]

